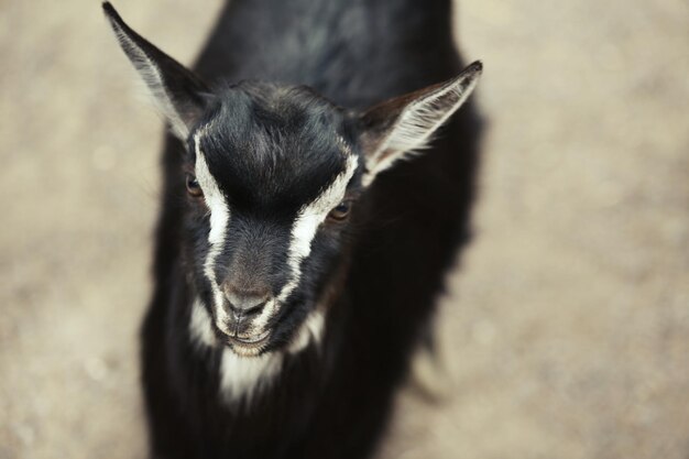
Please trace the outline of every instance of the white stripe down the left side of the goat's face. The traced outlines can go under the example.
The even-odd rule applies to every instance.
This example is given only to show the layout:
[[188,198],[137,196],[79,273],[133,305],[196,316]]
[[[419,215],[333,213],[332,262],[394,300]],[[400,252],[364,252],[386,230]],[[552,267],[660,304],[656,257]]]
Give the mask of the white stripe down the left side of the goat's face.
[[215,310],[218,316],[217,325],[225,332],[226,324],[229,319],[227,312],[222,307],[223,294],[216,278],[216,259],[225,247],[227,228],[230,223],[230,207],[225,198],[218,183],[210,174],[208,163],[200,149],[200,138],[205,134],[206,128],[201,128],[194,134],[194,150],[196,152],[196,179],[204,190],[204,199],[210,209],[210,231],[208,232],[208,243],[210,249],[204,263],[204,273],[212,289]]

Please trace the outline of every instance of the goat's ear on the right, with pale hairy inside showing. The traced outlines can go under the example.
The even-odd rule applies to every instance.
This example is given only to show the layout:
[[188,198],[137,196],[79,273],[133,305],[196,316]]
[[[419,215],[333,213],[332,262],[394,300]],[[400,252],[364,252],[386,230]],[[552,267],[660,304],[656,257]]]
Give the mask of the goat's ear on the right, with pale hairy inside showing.
[[457,77],[382,102],[360,118],[365,155],[364,185],[405,154],[428,146],[438,130],[467,100],[483,66],[474,62]]

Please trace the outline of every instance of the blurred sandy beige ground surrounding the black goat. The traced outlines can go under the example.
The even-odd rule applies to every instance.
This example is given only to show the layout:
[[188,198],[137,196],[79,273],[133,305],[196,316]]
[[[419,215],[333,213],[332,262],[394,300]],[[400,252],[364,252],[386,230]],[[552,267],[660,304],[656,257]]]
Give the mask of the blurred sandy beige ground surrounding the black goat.
[[[193,62],[219,1],[118,0]],[[489,120],[438,327],[380,458],[689,457],[689,3],[462,0]],[[162,123],[96,0],[0,1],[0,458],[144,458]]]

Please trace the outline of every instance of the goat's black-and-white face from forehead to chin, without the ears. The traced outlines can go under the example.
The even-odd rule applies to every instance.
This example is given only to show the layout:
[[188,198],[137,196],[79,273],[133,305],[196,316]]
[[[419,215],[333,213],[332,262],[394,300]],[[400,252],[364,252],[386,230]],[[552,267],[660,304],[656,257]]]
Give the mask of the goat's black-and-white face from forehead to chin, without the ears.
[[241,354],[289,346],[340,262],[363,164],[341,109],[242,83],[187,139],[187,250],[216,331]]

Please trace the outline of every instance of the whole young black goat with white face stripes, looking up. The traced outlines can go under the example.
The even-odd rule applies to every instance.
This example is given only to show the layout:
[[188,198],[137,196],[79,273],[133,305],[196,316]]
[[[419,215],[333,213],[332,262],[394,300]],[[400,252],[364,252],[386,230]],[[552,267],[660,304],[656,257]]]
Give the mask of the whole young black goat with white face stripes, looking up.
[[152,457],[374,452],[469,234],[481,123],[452,114],[482,66],[460,72],[450,7],[232,0],[192,72],[103,3],[172,131]]

